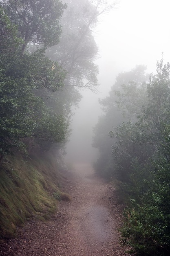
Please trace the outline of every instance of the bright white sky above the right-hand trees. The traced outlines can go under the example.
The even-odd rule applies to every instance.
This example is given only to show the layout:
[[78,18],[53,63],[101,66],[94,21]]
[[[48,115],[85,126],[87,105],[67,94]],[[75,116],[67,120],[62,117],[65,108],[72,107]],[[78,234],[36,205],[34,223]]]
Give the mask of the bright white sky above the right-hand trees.
[[[170,62],[170,0],[120,0],[102,17],[95,40],[99,47],[99,82],[104,90],[119,72],[138,64],[155,72],[156,61]],[[102,85],[104,79],[109,85]]]

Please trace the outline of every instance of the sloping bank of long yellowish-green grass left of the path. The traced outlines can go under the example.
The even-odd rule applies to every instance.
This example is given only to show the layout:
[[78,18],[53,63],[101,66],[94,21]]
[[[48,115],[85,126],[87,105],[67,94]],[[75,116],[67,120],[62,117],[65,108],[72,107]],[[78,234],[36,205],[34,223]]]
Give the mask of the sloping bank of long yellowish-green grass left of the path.
[[46,157],[9,157],[0,163],[0,237],[16,234],[16,226],[36,216],[47,220],[59,200],[69,200],[60,188],[56,161]]

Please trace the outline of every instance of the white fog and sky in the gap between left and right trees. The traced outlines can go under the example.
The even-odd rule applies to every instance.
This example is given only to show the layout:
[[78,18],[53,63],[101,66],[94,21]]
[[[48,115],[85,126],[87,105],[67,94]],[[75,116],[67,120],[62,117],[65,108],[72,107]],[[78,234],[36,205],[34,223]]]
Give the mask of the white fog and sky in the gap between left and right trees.
[[101,115],[98,99],[108,95],[116,76],[144,64],[155,72],[156,62],[170,61],[168,0],[120,0],[115,9],[100,18],[94,33],[99,48],[99,92],[81,91],[83,96],[73,117],[73,129],[67,146],[67,158],[93,162],[93,127]]

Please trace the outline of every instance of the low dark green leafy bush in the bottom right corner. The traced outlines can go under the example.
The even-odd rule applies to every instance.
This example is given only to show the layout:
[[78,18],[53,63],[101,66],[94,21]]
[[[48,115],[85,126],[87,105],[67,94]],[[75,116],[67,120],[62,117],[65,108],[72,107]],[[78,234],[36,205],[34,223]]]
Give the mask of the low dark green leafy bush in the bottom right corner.
[[134,200],[132,207],[124,211],[122,242],[130,245],[137,255],[169,255],[170,216],[154,204],[139,205]]

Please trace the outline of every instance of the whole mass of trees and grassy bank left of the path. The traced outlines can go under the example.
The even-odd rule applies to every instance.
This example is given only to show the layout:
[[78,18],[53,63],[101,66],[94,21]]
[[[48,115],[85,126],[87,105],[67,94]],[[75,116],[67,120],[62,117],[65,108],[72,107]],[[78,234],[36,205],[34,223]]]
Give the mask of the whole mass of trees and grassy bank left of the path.
[[93,28],[111,7],[0,0],[0,236],[12,236],[31,215],[48,215],[61,198],[60,156],[77,88],[97,86]]

